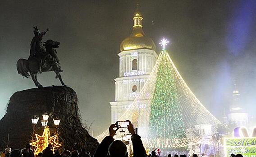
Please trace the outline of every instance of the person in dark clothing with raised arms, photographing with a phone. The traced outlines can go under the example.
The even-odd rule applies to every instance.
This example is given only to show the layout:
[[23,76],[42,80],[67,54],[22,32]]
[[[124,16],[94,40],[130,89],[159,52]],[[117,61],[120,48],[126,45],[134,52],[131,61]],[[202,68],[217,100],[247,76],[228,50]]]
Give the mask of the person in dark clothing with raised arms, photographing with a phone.
[[[133,157],[146,157],[146,151],[142,144],[141,137],[135,134],[133,124],[128,120],[127,122],[129,122],[128,131],[132,134]],[[119,129],[114,130],[115,127],[115,124],[110,125],[110,135],[102,140],[93,157],[128,157],[126,145],[120,140],[114,141],[113,139],[116,131]]]

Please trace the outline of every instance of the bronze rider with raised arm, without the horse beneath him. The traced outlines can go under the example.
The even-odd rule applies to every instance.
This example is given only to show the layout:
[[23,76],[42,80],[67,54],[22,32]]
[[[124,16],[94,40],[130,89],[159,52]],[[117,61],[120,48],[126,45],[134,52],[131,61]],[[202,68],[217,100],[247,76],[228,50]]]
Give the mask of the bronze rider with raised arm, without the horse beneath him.
[[[46,52],[45,46],[42,44],[43,36],[46,35],[46,31],[40,32],[37,26],[34,27],[34,37],[30,44],[30,56],[40,58],[43,62],[46,61],[50,65],[59,64],[59,58],[57,57],[56,51]],[[50,55],[49,55],[50,54]]]

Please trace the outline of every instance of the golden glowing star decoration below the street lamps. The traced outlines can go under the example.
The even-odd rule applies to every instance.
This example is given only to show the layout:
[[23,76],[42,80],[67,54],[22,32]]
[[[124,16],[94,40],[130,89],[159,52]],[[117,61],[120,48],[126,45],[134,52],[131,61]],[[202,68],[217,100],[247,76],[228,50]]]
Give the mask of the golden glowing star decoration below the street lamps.
[[55,148],[60,147],[61,144],[58,144],[56,142],[57,135],[50,136],[50,128],[49,126],[45,126],[43,135],[36,134],[37,141],[30,143],[30,145],[37,147],[35,151],[35,155],[37,155],[40,152],[43,152],[43,150],[48,146],[48,144],[52,145],[52,150],[54,151]]

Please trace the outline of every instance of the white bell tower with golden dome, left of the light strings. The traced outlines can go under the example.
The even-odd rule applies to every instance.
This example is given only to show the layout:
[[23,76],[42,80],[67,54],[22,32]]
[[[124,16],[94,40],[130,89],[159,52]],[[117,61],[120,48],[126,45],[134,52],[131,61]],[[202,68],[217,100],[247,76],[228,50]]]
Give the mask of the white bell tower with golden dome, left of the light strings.
[[[111,105],[111,122],[114,123],[130,108],[151,73],[158,55],[155,43],[142,30],[142,15],[135,13],[133,31],[120,44],[119,77],[115,79],[115,101]],[[137,108],[145,108],[140,104]]]

